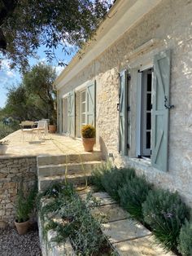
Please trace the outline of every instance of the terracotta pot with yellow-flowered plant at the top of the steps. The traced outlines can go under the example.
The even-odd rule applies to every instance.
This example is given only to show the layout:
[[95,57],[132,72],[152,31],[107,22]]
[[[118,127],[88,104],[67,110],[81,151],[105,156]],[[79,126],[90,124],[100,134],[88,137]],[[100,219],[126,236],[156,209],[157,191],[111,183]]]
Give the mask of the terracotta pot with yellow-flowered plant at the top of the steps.
[[92,152],[95,144],[95,128],[91,125],[83,126],[81,129],[83,146],[85,151]]

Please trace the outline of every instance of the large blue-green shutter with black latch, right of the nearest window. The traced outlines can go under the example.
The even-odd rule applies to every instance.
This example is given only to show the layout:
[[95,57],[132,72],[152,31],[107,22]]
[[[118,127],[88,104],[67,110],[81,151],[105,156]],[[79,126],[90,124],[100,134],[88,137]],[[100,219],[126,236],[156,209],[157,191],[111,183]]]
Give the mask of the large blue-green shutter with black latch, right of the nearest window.
[[159,170],[168,170],[168,116],[164,100],[169,103],[170,51],[164,51],[154,58],[152,91],[152,141],[151,162]]

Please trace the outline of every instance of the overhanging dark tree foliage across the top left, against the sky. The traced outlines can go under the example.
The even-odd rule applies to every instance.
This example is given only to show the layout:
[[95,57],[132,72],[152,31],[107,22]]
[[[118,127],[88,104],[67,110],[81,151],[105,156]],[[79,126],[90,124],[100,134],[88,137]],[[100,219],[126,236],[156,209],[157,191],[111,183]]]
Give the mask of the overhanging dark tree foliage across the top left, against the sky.
[[[28,56],[46,46],[49,60],[55,49],[81,47],[107,12],[107,0],[1,0],[0,51],[15,65],[26,68]],[[60,64],[62,64],[62,61]]]

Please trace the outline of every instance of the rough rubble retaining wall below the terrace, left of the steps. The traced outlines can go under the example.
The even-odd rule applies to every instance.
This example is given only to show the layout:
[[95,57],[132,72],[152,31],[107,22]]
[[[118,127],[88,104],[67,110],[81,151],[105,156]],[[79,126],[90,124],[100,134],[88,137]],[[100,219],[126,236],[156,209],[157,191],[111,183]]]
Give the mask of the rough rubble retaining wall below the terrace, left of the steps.
[[28,191],[37,179],[36,157],[6,158],[0,160],[0,223],[13,224],[15,198],[21,178]]

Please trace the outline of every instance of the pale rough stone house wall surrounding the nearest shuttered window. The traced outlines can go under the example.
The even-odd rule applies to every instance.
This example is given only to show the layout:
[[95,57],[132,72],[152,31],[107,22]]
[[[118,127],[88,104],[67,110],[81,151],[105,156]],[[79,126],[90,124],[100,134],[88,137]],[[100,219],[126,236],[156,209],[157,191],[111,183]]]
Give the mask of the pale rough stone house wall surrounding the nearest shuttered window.
[[[142,17],[102,55],[59,90],[59,97],[92,80],[96,81],[97,139],[105,155],[113,154],[117,166],[132,164],[138,172],[157,186],[178,190],[192,206],[192,1],[162,0]],[[159,43],[138,55],[131,55],[152,38]],[[145,161],[136,159],[137,70],[153,63],[154,55],[171,49],[168,172],[164,173]],[[124,68],[131,73],[129,157],[120,156],[118,73]],[[133,160],[133,161],[132,161]]]

